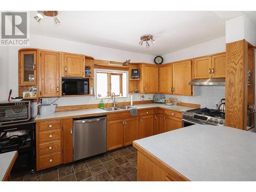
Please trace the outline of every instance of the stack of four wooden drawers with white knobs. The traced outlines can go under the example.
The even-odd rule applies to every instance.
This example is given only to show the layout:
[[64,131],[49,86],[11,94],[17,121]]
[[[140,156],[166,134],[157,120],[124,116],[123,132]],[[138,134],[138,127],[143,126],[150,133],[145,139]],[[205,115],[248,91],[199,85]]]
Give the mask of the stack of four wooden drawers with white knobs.
[[62,163],[61,120],[38,122],[36,127],[36,169]]

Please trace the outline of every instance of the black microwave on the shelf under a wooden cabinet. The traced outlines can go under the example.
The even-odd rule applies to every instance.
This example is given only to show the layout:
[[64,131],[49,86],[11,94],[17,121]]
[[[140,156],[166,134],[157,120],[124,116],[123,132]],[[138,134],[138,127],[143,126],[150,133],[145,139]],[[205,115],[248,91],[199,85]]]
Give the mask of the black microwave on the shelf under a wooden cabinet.
[[62,78],[62,95],[87,95],[89,94],[89,79]]

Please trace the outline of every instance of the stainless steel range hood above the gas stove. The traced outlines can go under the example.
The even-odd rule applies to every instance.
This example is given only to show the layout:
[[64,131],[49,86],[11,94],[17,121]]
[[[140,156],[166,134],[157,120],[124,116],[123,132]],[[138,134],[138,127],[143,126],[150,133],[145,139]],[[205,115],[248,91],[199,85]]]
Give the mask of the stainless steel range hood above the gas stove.
[[225,78],[192,79],[191,86],[225,86]]

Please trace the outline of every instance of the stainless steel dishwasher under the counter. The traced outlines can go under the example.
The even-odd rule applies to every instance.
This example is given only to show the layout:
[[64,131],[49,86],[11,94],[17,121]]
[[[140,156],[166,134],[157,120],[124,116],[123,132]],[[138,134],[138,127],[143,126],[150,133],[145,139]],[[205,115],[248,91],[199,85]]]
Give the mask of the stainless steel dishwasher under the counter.
[[106,116],[74,119],[74,161],[106,152]]

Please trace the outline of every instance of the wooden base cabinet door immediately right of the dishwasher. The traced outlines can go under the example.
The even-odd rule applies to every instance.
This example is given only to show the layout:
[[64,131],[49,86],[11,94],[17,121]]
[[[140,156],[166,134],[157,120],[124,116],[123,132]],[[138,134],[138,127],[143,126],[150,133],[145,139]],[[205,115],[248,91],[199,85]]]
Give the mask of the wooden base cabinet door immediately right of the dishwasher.
[[106,123],[106,151],[123,146],[123,120]]

